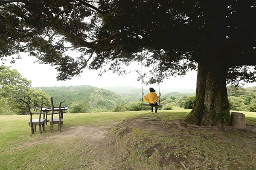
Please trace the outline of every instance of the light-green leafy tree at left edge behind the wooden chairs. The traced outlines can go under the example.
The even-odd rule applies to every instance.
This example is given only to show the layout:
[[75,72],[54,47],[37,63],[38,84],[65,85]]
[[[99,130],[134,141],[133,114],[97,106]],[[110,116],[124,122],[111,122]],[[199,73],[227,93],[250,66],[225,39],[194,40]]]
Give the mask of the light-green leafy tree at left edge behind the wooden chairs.
[[30,105],[50,106],[49,94],[30,88],[31,81],[21,77],[15,69],[6,66],[0,66],[0,115],[20,114],[20,107],[23,102],[19,98],[29,102]]

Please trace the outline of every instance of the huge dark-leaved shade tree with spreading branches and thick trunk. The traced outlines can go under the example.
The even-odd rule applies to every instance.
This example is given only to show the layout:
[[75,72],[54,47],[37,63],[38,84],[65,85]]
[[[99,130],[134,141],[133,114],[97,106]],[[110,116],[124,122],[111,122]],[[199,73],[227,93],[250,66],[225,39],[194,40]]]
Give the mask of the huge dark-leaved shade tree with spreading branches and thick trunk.
[[151,83],[197,68],[195,105],[186,117],[196,125],[229,124],[226,83],[255,81],[254,0],[0,2],[0,57],[29,51],[57,65],[58,79],[106,63],[119,73],[132,61],[154,65]]

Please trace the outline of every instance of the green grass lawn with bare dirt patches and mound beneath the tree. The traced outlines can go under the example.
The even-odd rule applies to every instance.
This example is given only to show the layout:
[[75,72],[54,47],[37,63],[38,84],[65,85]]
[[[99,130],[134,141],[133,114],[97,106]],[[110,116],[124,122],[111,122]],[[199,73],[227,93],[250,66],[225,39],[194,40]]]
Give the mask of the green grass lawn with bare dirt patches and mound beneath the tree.
[[33,135],[28,115],[0,116],[0,170],[256,169],[256,113],[236,130],[179,123],[189,111],[64,114]]

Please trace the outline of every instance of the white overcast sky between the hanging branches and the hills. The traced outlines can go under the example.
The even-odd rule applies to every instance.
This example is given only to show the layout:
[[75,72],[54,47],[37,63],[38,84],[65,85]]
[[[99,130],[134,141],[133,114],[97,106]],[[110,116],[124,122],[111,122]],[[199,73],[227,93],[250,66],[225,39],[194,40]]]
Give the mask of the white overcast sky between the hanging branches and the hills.
[[[141,82],[137,81],[139,76],[136,72],[131,72],[125,76],[118,76],[111,72],[103,74],[103,77],[99,77],[99,71],[90,71],[84,69],[84,73],[81,77],[74,77],[71,80],[57,81],[57,71],[53,67],[47,64],[34,63],[35,57],[29,57],[27,55],[22,56],[23,59],[19,59],[15,64],[5,65],[11,66],[11,69],[16,69],[23,78],[32,81],[32,87],[51,87],[51,86],[74,86],[74,85],[91,85],[93,87],[116,87],[118,85],[132,85],[137,88],[141,88]],[[184,77],[170,77],[163,80],[160,84],[160,88],[175,88],[175,89],[195,89],[196,88],[196,71],[191,71]],[[256,83],[247,84],[244,87],[256,86]],[[143,88],[149,86],[143,85]],[[150,85],[150,87],[158,89],[158,85]]]

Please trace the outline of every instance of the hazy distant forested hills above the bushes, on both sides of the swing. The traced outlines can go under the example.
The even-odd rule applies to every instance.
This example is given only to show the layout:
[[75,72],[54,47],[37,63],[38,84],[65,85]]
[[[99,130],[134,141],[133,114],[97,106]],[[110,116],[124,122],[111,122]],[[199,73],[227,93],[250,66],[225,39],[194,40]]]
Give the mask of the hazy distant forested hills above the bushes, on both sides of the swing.
[[[74,112],[101,112],[101,111],[113,111],[114,108],[120,105],[126,105],[129,102],[141,101],[140,88],[134,88],[132,86],[118,86],[118,87],[105,87],[96,88],[90,85],[78,85],[78,86],[62,86],[62,87],[37,87],[35,89],[46,92],[53,97],[55,105],[58,102],[65,100],[64,105],[72,108],[70,113]],[[109,90],[108,90],[109,89]],[[185,91],[191,91],[192,93],[179,93],[171,92],[163,94],[161,99],[166,98],[178,98],[186,95],[195,95],[195,90],[184,89]],[[143,89],[145,93],[148,89]],[[163,90],[164,92],[172,91]],[[74,110],[74,108],[76,108]]]

